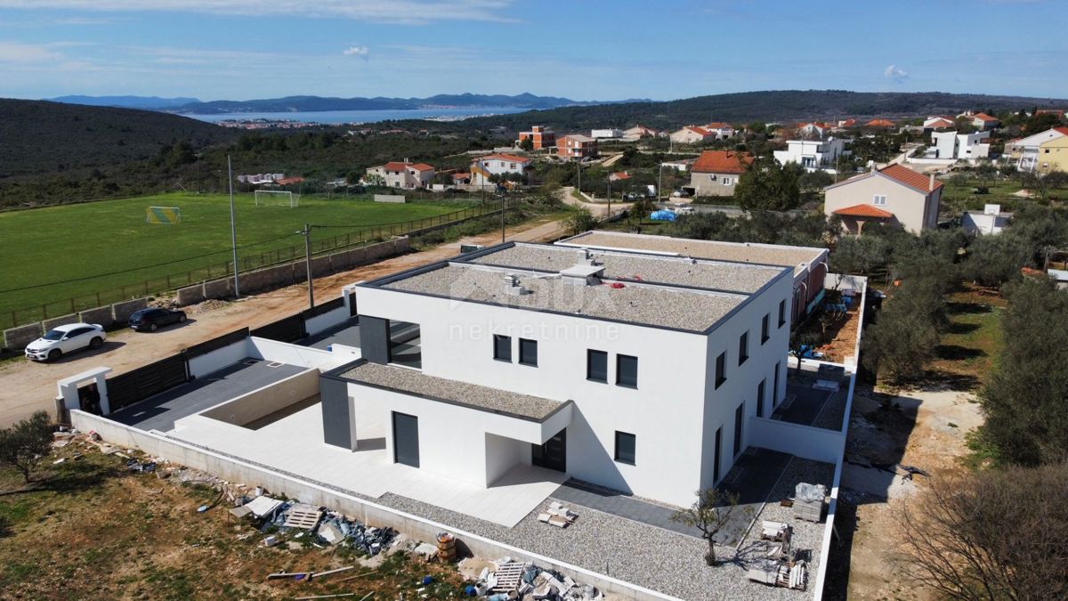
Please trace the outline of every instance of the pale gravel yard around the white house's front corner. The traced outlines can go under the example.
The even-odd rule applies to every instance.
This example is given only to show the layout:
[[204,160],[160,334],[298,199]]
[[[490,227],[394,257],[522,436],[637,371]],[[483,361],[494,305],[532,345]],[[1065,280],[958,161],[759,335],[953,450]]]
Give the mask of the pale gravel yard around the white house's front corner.
[[757,521],[789,523],[794,526],[794,549],[811,551],[810,588],[804,591],[747,580],[749,563],[767,549],[767,543],[758,540],[756,529],[747,535],[737,555],[732,548],[718,546],[720,558],[733,560],[710,568],[704,563],[704,540],[600,511],[572,507],[579,519],[571,526],[561,529],[543,524],[537,521],[537,513],[549,507],[551,498],[512,528],[394,494],[376,502],[682,599],[800,601],[813,596],[811,587],[819,568],[824,524],[794,519],[792,510],[780,506],[778,499],[792,496],[794,487],[801,481],[830,488],[833,475],[833,465],[794,458],[769,497],[774,502],[756,517]]

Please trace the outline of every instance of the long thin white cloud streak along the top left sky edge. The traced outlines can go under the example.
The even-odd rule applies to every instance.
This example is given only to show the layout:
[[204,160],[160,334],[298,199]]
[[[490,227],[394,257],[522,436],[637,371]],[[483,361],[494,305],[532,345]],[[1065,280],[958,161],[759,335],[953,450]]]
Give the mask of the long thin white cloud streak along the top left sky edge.
[[175,12],[217,15],[347,18],[422,25],[440,20],[514,20],[501,13],[513,0],[0,0],[0,9],[94,12]]

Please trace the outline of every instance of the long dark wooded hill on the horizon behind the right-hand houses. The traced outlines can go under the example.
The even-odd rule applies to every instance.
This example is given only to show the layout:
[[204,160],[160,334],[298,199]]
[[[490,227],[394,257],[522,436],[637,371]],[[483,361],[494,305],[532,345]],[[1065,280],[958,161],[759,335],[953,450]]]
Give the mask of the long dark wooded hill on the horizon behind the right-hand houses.
[[1032,107],[1068,106],[1068,101],[1025,96],[948,94],[944,92],[848,92],[845,90],[776,90],[696,96],[663,103],[623,103],[582,107],[561,107],[537,112],[471,119],[475,128],[504,126],[522,129],[532,123],[557,130],[593,127],[628,127],[641,123],[669,128],[709,121],[748,123],[752,121],[797,121],[845,119],[847,117],[920,117],[957,114],[967,109],[1019,110]]

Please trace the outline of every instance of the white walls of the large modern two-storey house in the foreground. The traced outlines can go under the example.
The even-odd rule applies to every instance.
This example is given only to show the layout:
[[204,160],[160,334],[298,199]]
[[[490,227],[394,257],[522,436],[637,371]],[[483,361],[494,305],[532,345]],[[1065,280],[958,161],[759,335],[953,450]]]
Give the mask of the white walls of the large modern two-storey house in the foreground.
[[[545,248],[541,245],[521,246]],[[548,248],[563,257],[553,260],[554,266],[541,265],[550,272],[578,255],[575,249]],[[501,255],[494,257],[499,251]],[[686,258],[653,258],[626,251],[598,251],[598,255],[612,255],[616,260],[631,262],[638,266],[635,269],[648,274],[646,280],[656,279],[656,265],[660,262],[692,264],[692,260]],[[492,265],[512,262],[500,247],[482,251],[478,257]],[[593,299],[594,309],[578,313],[565,309],[570,306],[566,298],[552,309],[471,302],[465,299],[467,284],[462,275],[444,290],[421,293],[394,288],[408,286],[405,280],[409,279],[418,283],[422,274],[445,268],[441,265],[360,284],[356,291],[361,323],[381,319],[420,325],[422,367],[421,373],[412,373],[413,377],[435,376],[529,395],[560,403],[560,409],[539,421],[505,415],[507,411],[503,407],[487,411],[457,406],[456,403],[352,382],[348,385],[352,414],[358,420],[371,414],[376,422],[390,419],[388,414],[393,411],[417,417],[420,468],[482,486],[492,483],[516,466],[532,463],[533,445],[546,443],[564,431],[564,463],[569,476],[639,496],[689,505],[694,491],[714,484],[727,474],[737,458],[736,447],[740,451],[748,446],[748,423],[757,413],[758,386],[765,388],[763,414],[766,416],[770,415],[773,404],[785,397],[790,315],[786,311],[780,323],[779,307],[781,303],[786,307],[790,305],[794,272],[790,267],[727,265],[712,261],[701,261],[697,265],[693,268],[741,269],[737,273],[745,274],[745,278],[753,274],[767,281],[754,292],[735,294],[624,281],[623,289],[640,289],[633,294],[655,289],[658,293],[666,291],[670,298],[677,297],[678,307],[664,307],[666,311],[686,311],[687,299],[693,295],[720,295],[729,297],[732,303],[737,302],[737,306],[707,327],[703,317],[694,314],[693,329],[625,321],[626,310],[598,313],[597,298]],[[489,267],[454,262],[449,268],[460,266],[462,268],[457,272],[460,274],[472,273],[471,269],[483,274],[491,271],[494,281],[502,279],[505,273],[522,274],[520,281],[539,278],[538,281],[545,281],[544,286],[549,288],[534,294],[550,294],[550,290],[555,290],[551,294],[562,295],[562,298],[572,294],[609,298],[612,294],[610,287],[568,284],[559,279],[562,276],[523,272],[529,267],[527,264]],[[550,279],[545,280],[546,277]],[[604,277],[604,283],[612,279],[610,273]],[[691,283],[702,286],[701,281]],[[541,300],[545,298],[543,296]],[[554,297],[553,302],[556,300]],[[768,338],[761,340],[765,319]],[[748,357],[740,360],[743,333],[748,333]],[[494,358],[494,335],[511,337],[513,360]],[[516,360],[519,339],[536,341],[536,366]],[[367,344],[365,340],[364,357],[374,354]],[[608,371],[603,382],[587,377],[590,350],[607,353]],[[718,384],[717,359],[721,354],[725,355],[726,377]],[[621,355],[637,357],[635,386],[616,383]],[[778,389],[774,388],[776,383]],[[739,406],[743,407],[742,427],[741,440],[736,445],[735,417]],[[359,437],[361,426],[357,422],[355,427],[356,437]],[[714,466],[717,431],[720,431],[718,468]],[[633,435],[633,462],[617,460],[617,433]],[[394,444],[391,437],[387,433],[387,445]]]

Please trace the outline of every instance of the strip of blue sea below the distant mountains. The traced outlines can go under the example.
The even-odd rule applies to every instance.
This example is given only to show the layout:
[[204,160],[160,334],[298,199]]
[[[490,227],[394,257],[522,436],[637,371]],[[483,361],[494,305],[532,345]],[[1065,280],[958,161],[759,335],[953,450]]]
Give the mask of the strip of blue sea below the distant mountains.
[[216,114],[186,114],[201,121],[219,123],[220,121],[297,121],[302,123],[377,123],[400,119],[427,119],[431,121],[459,121],[472,117],[490,117],[494,114],[512,114],[531,109],[518,107],[468,107],[468,108],[426,108],[406,110],[321,110],[307,112],[220,112]]

